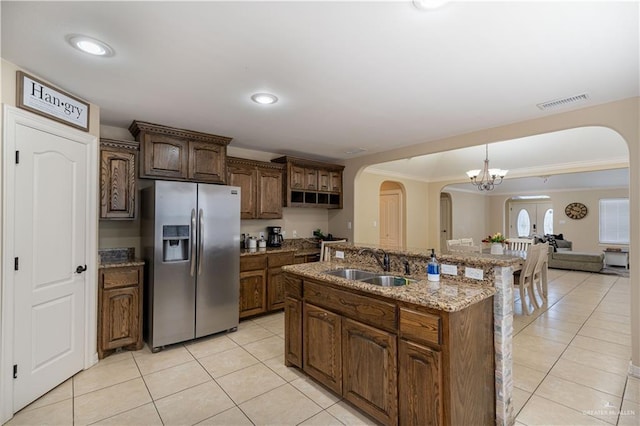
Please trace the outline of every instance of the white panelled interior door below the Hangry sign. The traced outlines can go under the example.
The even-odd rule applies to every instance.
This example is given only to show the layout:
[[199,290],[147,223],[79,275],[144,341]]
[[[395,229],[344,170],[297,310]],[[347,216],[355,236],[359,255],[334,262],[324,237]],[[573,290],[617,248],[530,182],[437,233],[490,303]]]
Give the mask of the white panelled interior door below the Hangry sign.
[[[88,323],[85,309],[87,292],[92,293],[88,284],[95,286],[88,275],[96,273],[91,259],[95,238],[88,234],[95,234],[92,186],[97,177],[90,161],[95,147],[86,143],[87,138],[95,142],[94,137],[80,134],[84,141],[66,137],[65,126],[45,131],[21,123],[8,125],[5,137],[10,133],[11,140],[5,142],[15,146],[19,160],[10,179],[13,188],[5,186],[11,192],[5,198],[9,199],[5,224],[12,226],[12,233],[3,239],[13,243],[3,243],[11,252],[4,257],[3,273],[9,279],[3,290],[13,296],[13,318],[3,313],[2,321],[3,331],[13,323],[9,330],[13,339],[5,335],[2,342],[13,350],[7,354],[3,348],[3,365],[11,356],[15,378],[12,398],[4,395],[3,405],[12,399],[16,412],[85,367],[86,339],[95,336],[86,332],[95,322]],[[57,127],[61,133],[55,132]],[[10,256],[13,264],[8,265]],[[6,307],[3,301],[3,310]],[[5,383],[3,378],[4,389]]]

